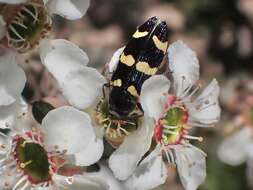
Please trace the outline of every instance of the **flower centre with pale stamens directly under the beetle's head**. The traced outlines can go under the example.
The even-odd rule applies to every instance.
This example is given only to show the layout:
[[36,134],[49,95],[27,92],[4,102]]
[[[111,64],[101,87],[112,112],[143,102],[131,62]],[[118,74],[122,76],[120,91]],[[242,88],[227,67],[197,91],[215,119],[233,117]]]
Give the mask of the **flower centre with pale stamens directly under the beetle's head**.
[[105,137],[111,142],[122,142],[126,135],[138,128],[141,117],[142,114],[136,108],[129,117],[119,119],[109,112],[109,104],[105,99],[101,99],[95,111],[96,122],[105,129]]

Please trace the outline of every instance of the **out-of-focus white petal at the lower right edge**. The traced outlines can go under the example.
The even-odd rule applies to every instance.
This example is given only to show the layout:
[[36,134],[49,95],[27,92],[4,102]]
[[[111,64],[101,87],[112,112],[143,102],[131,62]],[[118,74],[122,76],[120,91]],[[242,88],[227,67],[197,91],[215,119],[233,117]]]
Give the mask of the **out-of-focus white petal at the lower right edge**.
[[249,154],[247,148],[252,144],[252,131],[245,127],[224,140],[218,149],[218,157],[222,162],[229,165],[240,165],[246,161]]

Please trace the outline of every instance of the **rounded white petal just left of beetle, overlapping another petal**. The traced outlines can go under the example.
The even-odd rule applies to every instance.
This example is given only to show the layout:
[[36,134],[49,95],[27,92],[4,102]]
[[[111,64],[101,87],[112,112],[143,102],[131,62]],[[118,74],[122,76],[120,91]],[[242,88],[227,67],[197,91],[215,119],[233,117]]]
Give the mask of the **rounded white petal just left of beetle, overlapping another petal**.
[[71,105],[85,109],[99,101],[105,83],[106,79],[96,69],[83,67],[69,72],[61,88]]

